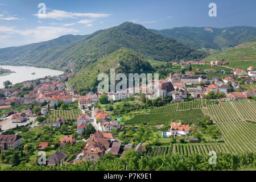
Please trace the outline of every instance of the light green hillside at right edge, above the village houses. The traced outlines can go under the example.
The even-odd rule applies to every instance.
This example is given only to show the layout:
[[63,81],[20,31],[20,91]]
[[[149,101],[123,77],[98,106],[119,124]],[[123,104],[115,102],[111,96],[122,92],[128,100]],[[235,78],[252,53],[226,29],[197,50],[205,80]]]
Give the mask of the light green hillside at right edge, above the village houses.
[[256,42],[247,42],[239,46],[229,48],[226,51],[205,57],[205,61],[225,60],[227,67],[245,69],[250,66],[256,67]]

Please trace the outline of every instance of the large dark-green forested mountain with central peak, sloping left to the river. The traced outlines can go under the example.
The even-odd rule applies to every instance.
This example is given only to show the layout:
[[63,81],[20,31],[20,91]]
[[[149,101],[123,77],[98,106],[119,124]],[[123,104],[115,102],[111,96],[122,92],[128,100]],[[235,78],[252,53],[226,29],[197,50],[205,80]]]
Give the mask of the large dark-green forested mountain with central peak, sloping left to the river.
[[[27,48],[26,46],[24,46]],[[138,52],[146,59],[171,61],[203,59],[205,52],[184,46],[174,39],[155,34],[134,23],[122,23],[88,35],[75,42],[48,49],[24,51],[24,47],[0,49],[0,64],[27,64],[80,70],[120,48]],[[27,48],[29,49],[29,48]],[[10,55],[10,52],[13,52]]]

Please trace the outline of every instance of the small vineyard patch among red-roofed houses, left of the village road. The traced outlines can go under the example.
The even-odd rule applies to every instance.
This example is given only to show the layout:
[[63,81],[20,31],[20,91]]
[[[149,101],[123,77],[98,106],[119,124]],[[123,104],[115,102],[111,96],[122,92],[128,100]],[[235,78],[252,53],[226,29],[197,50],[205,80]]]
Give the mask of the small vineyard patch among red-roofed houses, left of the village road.
[[46,122],[55,122],[57,117],[76,121],[81,114],[81,110],[49,110],[46,113]]

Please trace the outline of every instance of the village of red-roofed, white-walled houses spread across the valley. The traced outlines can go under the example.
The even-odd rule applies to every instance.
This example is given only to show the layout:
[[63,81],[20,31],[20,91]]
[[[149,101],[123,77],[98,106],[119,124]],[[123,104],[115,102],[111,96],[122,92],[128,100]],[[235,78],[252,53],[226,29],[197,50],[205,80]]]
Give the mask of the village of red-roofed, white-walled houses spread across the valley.
[[[256,71],[254,67],[247,68],[247,71],[242,69],[233,69],[225,78],[208,78],[205,72],[214,72],[214,66],[226,65],[225,61],[180,61],[181,68],[184,65],[205,65],[210,64],[213,69],[201,70],[196,69],[196,72],[188,71],[183,73],[170,73],[164,80],[159,80],[159,88],[157,92],[147,92],[145,94],[137,94],[148,100],[155,95],[162,99],[168,100],[167,104],[176,104],[180,102],[188,102],[192,100],[218,101],[228,102],[236,100],[254,100],[256,97],[256,89],[245,89],[242,84],[254,85],[256,80]],[[221,73],[226,73],[224,70]],[[40,78],[38,80],[24,81],[22,84],[9,85],[5,89],[1,89],[0,110],[5,110],[1,114],[0,121],[0,154],[7,150],[15,150],[23,143],[22,136],[19,135],[22,131],[11,134],[11,130],[19,127],[26,127],[32,130],[40,126],[49,126],[51,131],[59,132],[64,130],[64,126],[68,126],[66,133],[69,135],[61,135],[57,140],[59,144],[58,150],[49,155],[46,159],[47,165],[57,164],[75,164],[82,161],[96,162],[105,154],[113,154],[115,157],[122,157],[127,150],[134,148],[135,151],[145,152],[148,148],[142,142],[132,145],[131,143],[124,144],[122,140],[118,140],[114,134],[117,134],[122,128],[125,128],[125,123],[122,118],[111,117],[108,111],[102,110],[99,105],[101,100],[111,103],[118,103],[122,100],[133,99],[134,94],[129,93],[129,89],[117,93],[93,93],[88,92],[84,96],[76,92],[71,86],[67,88],[64,80],[67,80],[71,73],[64,73],[60,76]],[[154,80],[152,80],[154,82]],[[148,89],[140,87],[140,91]],[[127,91],[127,92],[126,92]],[[107,97],[106,97],[107,96]],[[101,103],[102,102],[102,103]],[[153,101],[154,102],[154,101]],[[24,109],[22,106],[25,106]],[[71,108],[69,108],[71,107]],[[72,108],[76,108],[76,113],[72,113]],[[65,111],[69,110],[69,114],[75,115],[72,119],[65,115]],[[56,114],[55,117],[47,117],[51,113]],[[61,115],[60,113],[64,113]],[[67,119],[68,118],[68,119]],[[69,120],[69,121],[68,121]],[[70,125],[70,127],[69,127]],[[75,125],[75,127],[74,127]],[[133,130],[137,130],[137,126],[132,126]],[[90,129],[88,129],[90,128]],[[76,134],[68,132],[73,129]],[[115,130],[115,131],[113,131]],[[84,136],[86,131],[88,137]],[[54,133],[54,134],[55,134]],[[161,131],[162,138],[171,138],[173,136],[184,137],[191,133],[191,126],[181,124],[180,121],[171,122],[165,131]],[[189,136],[188,142],[199,142],[199,138]],[[68,152],[59,150],[68,146],[73,146],[77,142],[85,142],[82,145],[81,151],[75,156],[69,158]],[[37,146],[38,151],[52,150],[52,143],[44,140]],[[25,145],[26,146],[26,145]],[[46,150],[47,148],[47,150]],[[55,147],[56,148],[56,144]],[[67,159],[72,159],[68,160]]]

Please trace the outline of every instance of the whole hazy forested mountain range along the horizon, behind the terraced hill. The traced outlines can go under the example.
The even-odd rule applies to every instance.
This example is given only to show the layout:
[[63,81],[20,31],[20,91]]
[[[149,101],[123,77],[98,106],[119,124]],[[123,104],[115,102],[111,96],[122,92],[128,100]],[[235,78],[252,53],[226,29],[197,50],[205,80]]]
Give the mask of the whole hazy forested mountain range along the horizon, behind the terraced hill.
[[159,31],[125,22],[90,35],[65,35],[46,42],[2,48],[0,64],[79,71],[122,48],[150,60],[200,60],[208,54],[197,49],[222,49],[255,38],[255,27],[181,27]]

